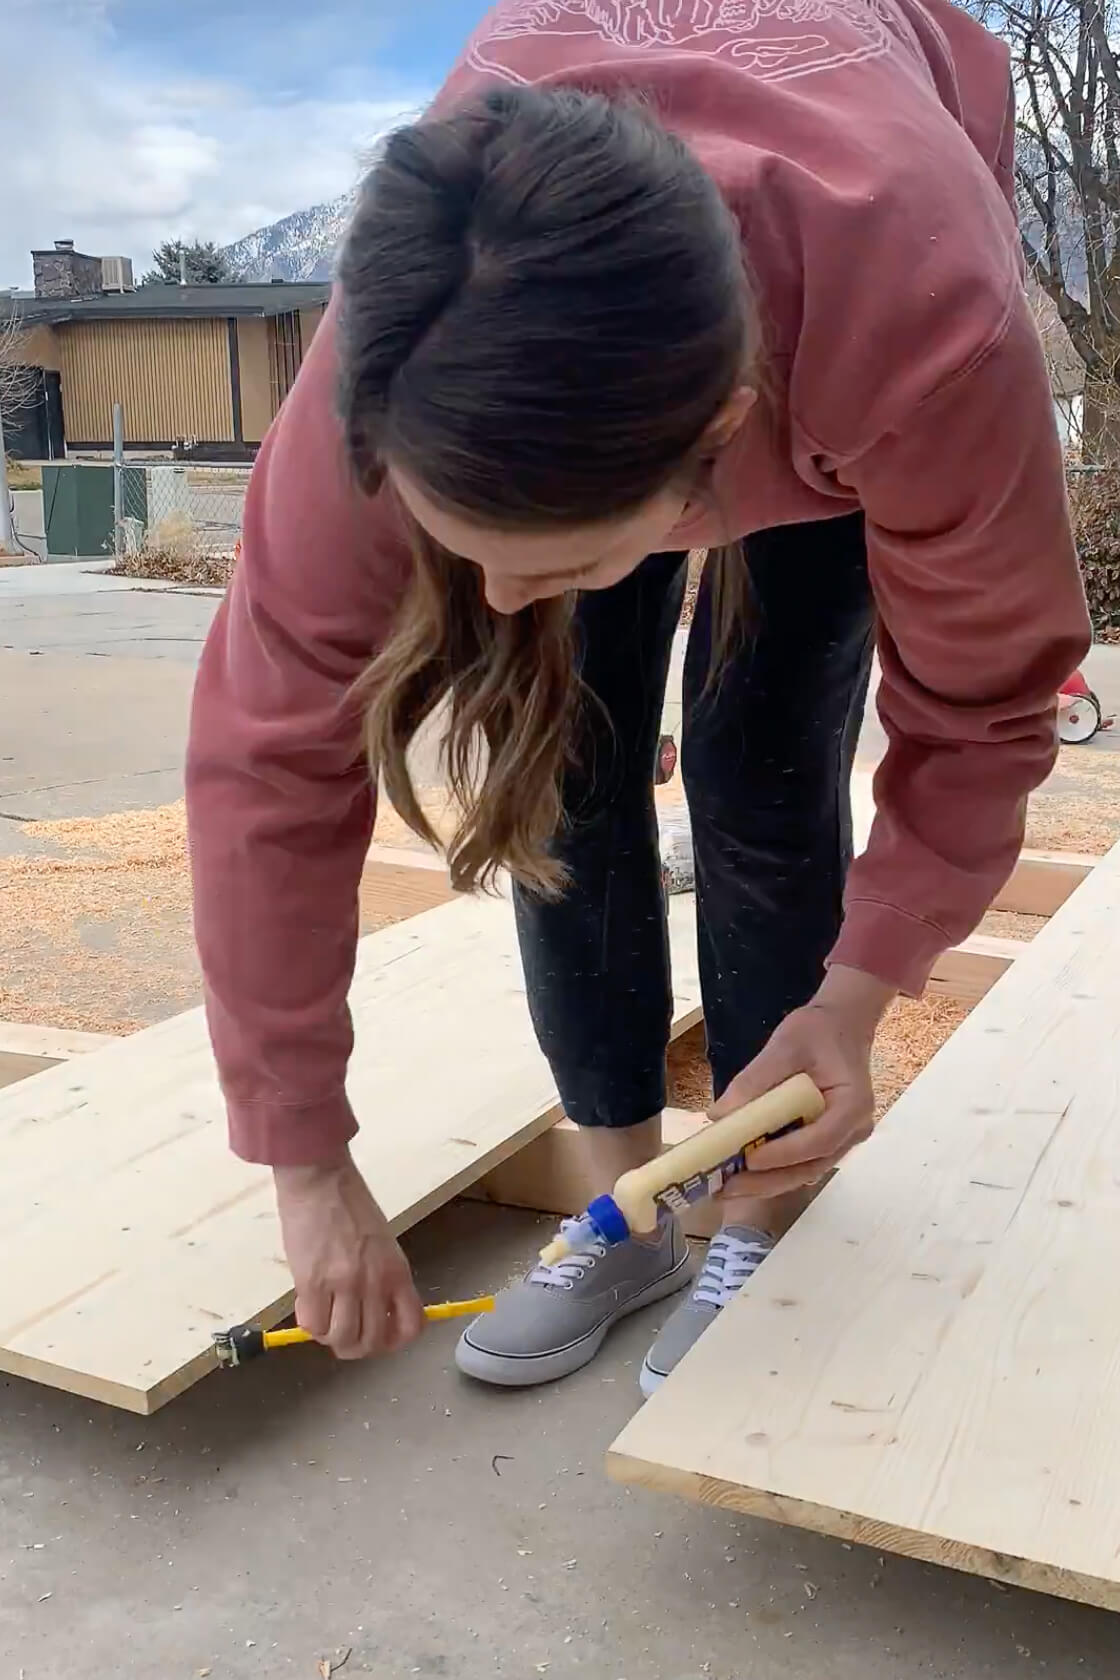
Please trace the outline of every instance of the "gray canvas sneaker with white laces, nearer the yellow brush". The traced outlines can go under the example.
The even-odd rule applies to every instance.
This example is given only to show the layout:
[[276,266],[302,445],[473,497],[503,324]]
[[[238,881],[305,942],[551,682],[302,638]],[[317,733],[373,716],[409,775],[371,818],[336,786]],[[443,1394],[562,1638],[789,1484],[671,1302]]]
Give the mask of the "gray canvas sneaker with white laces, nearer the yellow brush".
[[[564,1220],[561,1230],[574,1221]],[[504,1289],[494,1312],[463,1331],[455,1364],[480,1383],[527,1388],[579,1371],[606,1332],[692,1280],[692,1257],[677,1220],[657,1243],[581,1243],[556,1265],[537,1265]]]

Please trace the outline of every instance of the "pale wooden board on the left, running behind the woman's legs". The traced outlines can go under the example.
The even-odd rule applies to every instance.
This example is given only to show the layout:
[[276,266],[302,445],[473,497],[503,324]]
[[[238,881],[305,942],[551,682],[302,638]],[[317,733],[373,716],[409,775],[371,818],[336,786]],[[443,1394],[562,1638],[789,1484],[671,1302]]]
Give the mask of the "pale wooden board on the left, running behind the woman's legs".
[[[675,1030],[700,1018],[673,900]],[[395,1230],[557,1119],[510,906],[458,899],[363,939],[354,1154]],[[290,1307],[270,1174],[237,1161],[201,1011],[0,1090],[0,1369],[148,1413],[210,1334]]]

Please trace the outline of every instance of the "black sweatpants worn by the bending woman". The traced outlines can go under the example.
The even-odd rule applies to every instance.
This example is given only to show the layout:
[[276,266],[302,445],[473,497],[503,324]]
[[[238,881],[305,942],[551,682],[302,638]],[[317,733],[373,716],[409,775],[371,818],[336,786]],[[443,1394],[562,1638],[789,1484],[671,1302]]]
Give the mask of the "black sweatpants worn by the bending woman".
[[[863,521],[746,543],[747,637],[704,692],[709,580],[688,637],[682,773],[697,870],[700,986],[719,1094],[816,991],[851,860],[848,780],[873,642]],[[563,899],[517,892],[529,1008],[564,1110],[635,1126],[665,1104],[672,1015],[653,759],[687,554],[652,554],[579,600],[588,704],[554,850]]]

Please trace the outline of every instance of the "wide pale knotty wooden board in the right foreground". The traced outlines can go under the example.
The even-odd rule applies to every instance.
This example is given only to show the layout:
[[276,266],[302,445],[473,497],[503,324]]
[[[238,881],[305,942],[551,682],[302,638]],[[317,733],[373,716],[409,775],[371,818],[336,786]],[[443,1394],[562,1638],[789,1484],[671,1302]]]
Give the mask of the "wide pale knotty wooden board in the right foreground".
[[1118,974],[1115,848],[611,1475],[1120,1609]]

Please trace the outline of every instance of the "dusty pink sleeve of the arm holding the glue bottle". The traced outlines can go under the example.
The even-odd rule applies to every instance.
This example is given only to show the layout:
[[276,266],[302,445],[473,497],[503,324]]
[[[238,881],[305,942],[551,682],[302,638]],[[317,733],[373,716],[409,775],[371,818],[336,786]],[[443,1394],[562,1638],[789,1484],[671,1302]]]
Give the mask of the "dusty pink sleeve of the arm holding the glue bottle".
[[838,477],[866,514],[888,748],[831,961],[917,995],[1014,867],[1056,690],[1090,645],[1021,291],[997,339]]

